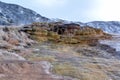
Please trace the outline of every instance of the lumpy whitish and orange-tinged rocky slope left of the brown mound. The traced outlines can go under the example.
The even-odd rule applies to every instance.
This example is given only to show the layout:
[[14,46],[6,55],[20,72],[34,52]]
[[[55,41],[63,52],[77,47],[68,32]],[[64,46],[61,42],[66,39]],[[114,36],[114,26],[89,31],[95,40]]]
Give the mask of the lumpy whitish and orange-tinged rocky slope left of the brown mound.
[[27,47],[35,43],[19,28],[0,28],[0,60],[24,60],[16,54],[27,51]]

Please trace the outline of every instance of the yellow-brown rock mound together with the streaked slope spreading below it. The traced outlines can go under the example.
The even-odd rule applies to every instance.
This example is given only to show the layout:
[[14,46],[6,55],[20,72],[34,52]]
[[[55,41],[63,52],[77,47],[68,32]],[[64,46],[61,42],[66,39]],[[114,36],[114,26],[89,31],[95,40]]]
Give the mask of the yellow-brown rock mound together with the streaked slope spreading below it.
[[[111,39],[111,36],[99,29],[89,26],[87,28],[79,26],[78,29],[78,26],[34,23],[24,27],[23,31],[32,39],[39,41],[39,44],[33,46],[36,50],[25,58],[30,61],[48,61],[53,65],[52,73],[71,77],[72,80],[119,80],[120,61],[116,57],[118,53],[114,48],[98,42],[101,39]],[[64,32],[68,28],[72,30]],[[52,35],[49,31],[52,31]],[[78,38],[75,37],[75,32],[79,33]],[[66,35],[72,36],[68,38]],[[95,41],[91,38],[95,38]]]

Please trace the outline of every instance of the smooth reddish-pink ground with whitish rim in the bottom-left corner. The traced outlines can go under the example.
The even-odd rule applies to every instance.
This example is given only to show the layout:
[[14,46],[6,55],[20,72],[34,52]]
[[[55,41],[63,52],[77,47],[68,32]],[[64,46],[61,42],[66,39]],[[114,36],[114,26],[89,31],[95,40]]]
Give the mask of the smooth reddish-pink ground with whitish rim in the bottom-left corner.
[[0,61],[0,80],[62,80],[52,77],[49,64],[29,61]]

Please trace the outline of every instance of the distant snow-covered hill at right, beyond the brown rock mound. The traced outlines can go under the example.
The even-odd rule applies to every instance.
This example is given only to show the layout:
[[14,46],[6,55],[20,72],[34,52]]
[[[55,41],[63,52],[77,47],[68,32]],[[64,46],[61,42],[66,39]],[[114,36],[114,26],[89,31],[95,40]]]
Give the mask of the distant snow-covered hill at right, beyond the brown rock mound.
[[108,22],[94,21],[94,22],[85,23],[85,25],[88,25],[94,28],[100,28],[107,33],[120,34],[120,22],[118,21],[108,21]]

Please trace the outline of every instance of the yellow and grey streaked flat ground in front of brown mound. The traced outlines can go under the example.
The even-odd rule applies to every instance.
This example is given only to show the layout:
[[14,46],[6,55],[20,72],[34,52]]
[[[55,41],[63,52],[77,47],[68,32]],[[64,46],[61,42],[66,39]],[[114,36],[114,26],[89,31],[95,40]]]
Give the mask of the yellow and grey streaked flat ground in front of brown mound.
[[[103,46],[103,45],[102,45]],[[36,47],[36,46],[35,46]],[[114,49],[109,53],[101,47],[87,45],[39,44],[27,60],[48,61],[53,67],[51,72],[72,80],[119,80],[120,61],[116,59]],[[108,48],[111,50],[110,48]],[[118,75],[114,74],[118,71]],[[66,79],[65,79],[66,80]]]

